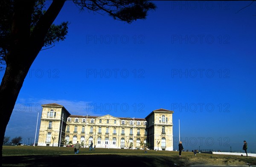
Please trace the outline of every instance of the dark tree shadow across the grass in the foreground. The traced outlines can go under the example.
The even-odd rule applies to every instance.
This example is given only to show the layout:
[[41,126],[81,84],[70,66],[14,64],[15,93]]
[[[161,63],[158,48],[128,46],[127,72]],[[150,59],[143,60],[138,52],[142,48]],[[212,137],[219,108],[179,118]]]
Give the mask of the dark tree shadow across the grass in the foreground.
[[135,155],[26,155],[4,156],[2,166],[26,167],[84,167],[84,166],[139,166],[139,167],[181,167],[168,157]]

